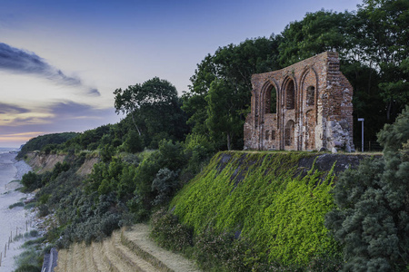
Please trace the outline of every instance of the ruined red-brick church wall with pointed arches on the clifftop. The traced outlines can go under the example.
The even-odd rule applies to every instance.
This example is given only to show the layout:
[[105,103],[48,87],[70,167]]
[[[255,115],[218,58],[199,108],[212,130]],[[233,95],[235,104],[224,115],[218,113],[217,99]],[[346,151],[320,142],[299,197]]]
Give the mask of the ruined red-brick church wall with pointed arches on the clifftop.
[[354,151],[353,88],[338,53],[252,76],[244,150]]

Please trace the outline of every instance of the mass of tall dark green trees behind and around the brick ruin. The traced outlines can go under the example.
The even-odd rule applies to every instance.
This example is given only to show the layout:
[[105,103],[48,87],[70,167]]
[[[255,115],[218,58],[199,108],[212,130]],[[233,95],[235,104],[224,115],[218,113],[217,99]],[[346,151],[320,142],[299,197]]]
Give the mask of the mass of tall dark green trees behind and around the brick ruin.
[[[408,102],[409,2],[364,0],[357,12],[308,13],[281,34],[220,47],[197,65],[185,93],[193,131],[216,149],[241,149],[251,74],[278,70],[324,51],[340,53],[354,88],[354,120],[365,119],[365,141],[376,141]],[[354,139],[359,140],[358,122]]]

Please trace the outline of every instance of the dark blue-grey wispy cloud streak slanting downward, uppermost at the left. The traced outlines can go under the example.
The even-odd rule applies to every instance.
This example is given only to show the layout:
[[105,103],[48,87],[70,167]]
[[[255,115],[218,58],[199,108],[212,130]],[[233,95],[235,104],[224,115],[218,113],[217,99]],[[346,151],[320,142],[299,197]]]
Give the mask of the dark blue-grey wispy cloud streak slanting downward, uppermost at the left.
[[10,73],[34,74],[57,84],[85,87],[87,94],[101,95],[95,88],[87,88],[79,78],[67,76],[37,54],[0,43],[0,69]]

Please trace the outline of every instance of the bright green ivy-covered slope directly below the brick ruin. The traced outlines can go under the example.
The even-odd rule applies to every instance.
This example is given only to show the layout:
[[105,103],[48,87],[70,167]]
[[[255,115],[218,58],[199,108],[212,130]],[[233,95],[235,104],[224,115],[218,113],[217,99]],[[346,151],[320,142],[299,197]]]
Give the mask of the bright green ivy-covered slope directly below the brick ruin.
[[334,161],[360,160],[351,157],[220,152],[170,208],[196,234],[212,228],[247,238],[268,262],[303,265],[313,257],[336,258],[341,249],[324,228],[324,215],[334,207],[329,193],[336,179]]

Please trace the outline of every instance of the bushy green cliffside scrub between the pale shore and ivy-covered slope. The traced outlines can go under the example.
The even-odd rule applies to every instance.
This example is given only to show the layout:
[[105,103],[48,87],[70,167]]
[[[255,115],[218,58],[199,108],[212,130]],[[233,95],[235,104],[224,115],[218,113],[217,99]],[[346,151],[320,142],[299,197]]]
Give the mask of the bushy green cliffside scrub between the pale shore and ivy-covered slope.
[[190,160],[194,153],[170,140],[160,141],[157,151],[115,151],[106,161],[102,157],[84,179],[76,174],[89,154],[82,152],[66,156],[52,171],[28,172],[22,183],[25,191],[39,189],[38,216],[55,214],[47,241],[65,248],[72,242],[100,240],[116,228],[148,219],[182,187],[181,175],[195,175],[199,163]]

